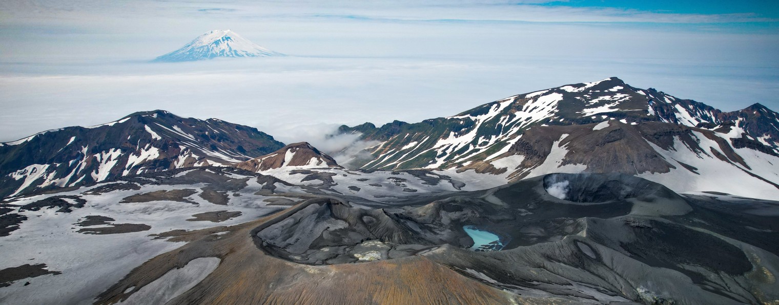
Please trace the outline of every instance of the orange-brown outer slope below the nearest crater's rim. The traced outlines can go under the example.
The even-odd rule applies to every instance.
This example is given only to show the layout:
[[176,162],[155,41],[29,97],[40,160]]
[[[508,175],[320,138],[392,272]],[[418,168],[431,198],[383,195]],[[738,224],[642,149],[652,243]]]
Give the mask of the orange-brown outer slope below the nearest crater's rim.
[[[220,258],[219,267],[169,304],[567,303],[554,298],[519,299],[520,296],[467,278],[421,256],[310,266],[274,258],[256,247],[252,230],[269,226],[316,200],[322,199],[308,200],[273,216],[238,226],[178,232],[192,242],[134,269],[125,279],[100,294],[96,303],[124,300],[172,268],[181,268],[192,259],[203,257]],[[230,233],[215,236],[215,231]],[[132,286],[136,288],[125,294]]]

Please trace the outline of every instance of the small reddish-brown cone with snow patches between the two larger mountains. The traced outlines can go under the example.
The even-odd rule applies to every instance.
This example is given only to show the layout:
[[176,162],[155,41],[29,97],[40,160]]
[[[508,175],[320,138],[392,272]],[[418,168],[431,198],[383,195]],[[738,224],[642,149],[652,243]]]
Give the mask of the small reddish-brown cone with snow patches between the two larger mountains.
[[308,142],[286,145],[274,153],[238,163],[241,170],[259,172],[280,167],[340,167],[336,160],[319,151]]

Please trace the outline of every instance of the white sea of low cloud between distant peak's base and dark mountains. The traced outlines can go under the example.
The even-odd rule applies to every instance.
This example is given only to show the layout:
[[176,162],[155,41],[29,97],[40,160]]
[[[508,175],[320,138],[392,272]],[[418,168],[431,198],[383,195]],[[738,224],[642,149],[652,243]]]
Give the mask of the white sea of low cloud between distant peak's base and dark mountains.
[[533,59],[289,57],[104,68],[65,65],[61,68],[77,73],[13,73],[0,77],[0,142],[154,109],[216,117],[274,136],[284,136],[286,126],[305,124],[418,122],[506,96],[610,76],[722,110],[756,102],[779,109],[777,68]]

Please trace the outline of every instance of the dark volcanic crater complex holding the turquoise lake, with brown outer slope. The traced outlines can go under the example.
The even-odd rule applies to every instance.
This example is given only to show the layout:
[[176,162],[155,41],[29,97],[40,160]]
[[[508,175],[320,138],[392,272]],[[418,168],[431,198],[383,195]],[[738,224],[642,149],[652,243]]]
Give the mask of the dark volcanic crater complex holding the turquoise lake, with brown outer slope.
[[[319,197],[250,223],[159,234],[189,243],[134,268],[96,303],[162,293],[171,296],[157,303],[779,298],[777,202],[678,195],[624,174],[550,174],[418,202],[365,209]],[[203,259],[213,267],[196,267]],[[179,268],[197,276],[171,284]]]

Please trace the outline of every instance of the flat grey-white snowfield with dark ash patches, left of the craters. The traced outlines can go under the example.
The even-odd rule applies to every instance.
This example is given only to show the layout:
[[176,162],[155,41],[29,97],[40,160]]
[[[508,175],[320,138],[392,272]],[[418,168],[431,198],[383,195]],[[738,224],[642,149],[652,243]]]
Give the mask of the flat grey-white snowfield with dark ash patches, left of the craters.
[[[248,240],[257,251],[249,233],[227,226],[242,226],[309,198],[337,195],[355,205],[381,207],[482,189],[478,181],[465,184],[422,170],[323,167],[284,173],[288,180],[234,167],[179,168],[0,201],[5,254],[0,303],[94,303],[133,268],[181,246],[171,241],[197,240],[204,232],[213,240]],[[196,269],[208,273],[201,267]],[[182,292],[178,285],[187,280],[163,281],[162,290],[152,293],[158,299],[129,303],[165,303],[159,298]]]

